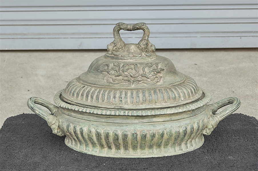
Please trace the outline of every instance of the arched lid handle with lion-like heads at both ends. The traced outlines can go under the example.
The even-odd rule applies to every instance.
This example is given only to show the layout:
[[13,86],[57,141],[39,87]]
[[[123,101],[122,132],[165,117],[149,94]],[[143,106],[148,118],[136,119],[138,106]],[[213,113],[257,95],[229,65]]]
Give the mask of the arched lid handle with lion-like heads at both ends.
[[112,52],[119,52],[125,46],[125,42],[122,40],[119,31],[135,31],[135,30],[143,30],[143,37],[137,44],[138,47],[145,53],[150,54],[155,51],[155,46],[149,42],[150,30],[145,25],[145,23],[137,23],[134,25],[128,25],[125,23],[117,23],[113,29],[113,35],[115,40],[107,45],[107,50]]

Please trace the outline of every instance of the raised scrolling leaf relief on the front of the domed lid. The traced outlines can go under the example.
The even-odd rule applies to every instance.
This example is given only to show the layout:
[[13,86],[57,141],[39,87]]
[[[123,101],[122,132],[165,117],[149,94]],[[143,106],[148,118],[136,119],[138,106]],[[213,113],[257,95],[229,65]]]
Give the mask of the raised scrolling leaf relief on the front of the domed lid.
[[107,74],[107,82],[111,84],[128,83],[131,86],[143,83],[153,85],[162,79],[162,71],[164,68],[159,66],[161,62],[149,62],[144,66],[139,64],[121,64],[114,62],[111,64],[103,64],[101,71]]

